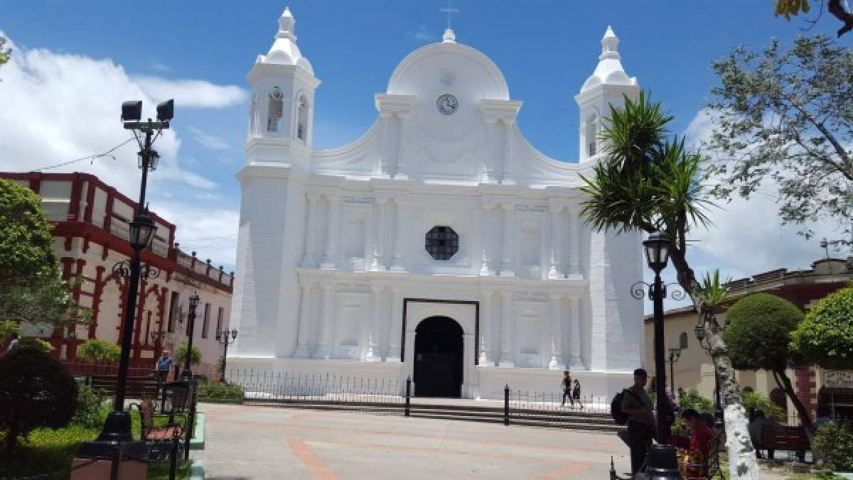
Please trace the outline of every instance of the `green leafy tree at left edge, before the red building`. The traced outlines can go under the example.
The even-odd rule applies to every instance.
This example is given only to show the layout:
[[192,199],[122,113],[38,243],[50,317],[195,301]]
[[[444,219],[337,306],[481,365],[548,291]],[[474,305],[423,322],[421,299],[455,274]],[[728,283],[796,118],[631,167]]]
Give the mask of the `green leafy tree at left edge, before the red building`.
[[50,224],[37,194],[0,179],[0,319],[55,325],[89,319],[61,280]]

